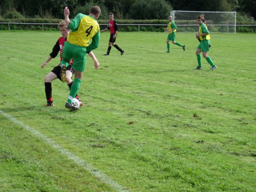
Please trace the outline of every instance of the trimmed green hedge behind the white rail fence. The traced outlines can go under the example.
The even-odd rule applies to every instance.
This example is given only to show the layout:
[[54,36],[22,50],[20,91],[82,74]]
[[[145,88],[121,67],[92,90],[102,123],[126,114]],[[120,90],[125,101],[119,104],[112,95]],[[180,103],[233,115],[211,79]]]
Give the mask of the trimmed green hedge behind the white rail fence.
[[[56,31],[58,30],[58,23],[60,22],[60,19],[41,19],[41,18],[34,18],[34,19],[27,19],[27,18],[22,18],[22,19],[1,19],[0,18],[0,30],[43,30],[43,25],[42,24],[3,24],[3,23],[45,23],[44,24],[44,30],[45,31]],[[152,32],[163,32],[163,29],[167,27],[168,25],[168,20],[116,20],[116,22],[120,24],[140,24],[140,31],[152,31]],[[183,21],[186,24],[197,24],[195,20],[186,20]],[[55,24],[47,24],[47,23],[55,23]],[[108,20],[98,20],[98,23],[100,24],[100,27],[104,29],[107,27]],[[176,25],[179,24],[179,21],[175,22]],[[207,21],[207,24],[211,24],[212,22],[209,20]],[[145,25],[143,25],[145,24]],[[154,24],[154,25],[159,25],[159,26],[148,26],[147,24]],[[256,25],[256,22],[249,22],[249,21],[244,21],[244,22],[237,22],[237,25]],[[164,25],[164,26],[160,26]],[[256,27],[255,26],[237,26],[236,31],[237,32],[256,32]],[[138,31],[139,27],[133,26],[133,25],[120,25],[119,26],[119,31],[122,32],[135,32]],[[183,32],[184,30],[182,28],[179,28],[179,32]],[[195,32],[197,32],[196,30]],[[217,26],[211,27],[211,31],[215,32],[217,31]]]

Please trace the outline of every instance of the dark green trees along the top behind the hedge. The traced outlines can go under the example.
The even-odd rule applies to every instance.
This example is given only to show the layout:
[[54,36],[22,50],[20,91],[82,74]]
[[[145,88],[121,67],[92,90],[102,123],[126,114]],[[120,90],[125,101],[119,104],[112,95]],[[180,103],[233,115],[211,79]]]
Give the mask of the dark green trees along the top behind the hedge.
[[0,0],[1,18],[63,18],[65,6],[74,17],[88,14],[91,6],[102,9],[101,19],[113,12],[117,19],[166,19],[172,10],[236,11],[256,18],[256,0]]

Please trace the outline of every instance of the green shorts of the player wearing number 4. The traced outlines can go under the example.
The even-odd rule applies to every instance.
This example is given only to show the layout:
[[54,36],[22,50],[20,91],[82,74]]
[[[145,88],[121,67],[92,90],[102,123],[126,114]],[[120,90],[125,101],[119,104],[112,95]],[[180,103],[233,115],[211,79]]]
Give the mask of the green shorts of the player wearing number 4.
[[61,57],[65,60],[71,60],[73,58],[72,67],[74,70],[81,72],[84,71],[86,64],[86,47],[70,44],[66,41],[64,43]]

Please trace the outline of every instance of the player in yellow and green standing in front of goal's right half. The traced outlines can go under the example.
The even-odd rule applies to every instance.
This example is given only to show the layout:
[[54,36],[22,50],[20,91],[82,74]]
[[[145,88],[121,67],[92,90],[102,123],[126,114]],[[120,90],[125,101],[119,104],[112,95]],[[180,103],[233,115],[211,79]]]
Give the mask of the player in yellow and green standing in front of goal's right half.
[[200,53],[203,52],[203,57],[211,65],[210,70],[212,71],[215,68],[217,68],[217,66],[212,62],[211,58],[207,55],[207,52],[209,51],[209,44],[210,44],[210,33],[207,29],[207,26],[203,23],[203,19],[204,19],[204,17],[202,15],[199,15],[197,17],[197,21],[198,21],[198,25],[199,25],[199,33],[195,34],[195,36],[196,36],[196,38],[200,38],[201,42],[195,51],[195,54],[196,54],[197,60],[198,60],[198,66],[195,67],[195,69],[196,70],[202,69]]

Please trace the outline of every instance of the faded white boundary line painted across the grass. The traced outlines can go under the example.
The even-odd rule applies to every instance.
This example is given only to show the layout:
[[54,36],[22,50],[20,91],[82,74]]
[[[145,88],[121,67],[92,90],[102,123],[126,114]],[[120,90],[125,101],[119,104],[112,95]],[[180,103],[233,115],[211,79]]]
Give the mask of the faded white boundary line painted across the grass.
[[85,160],[81,159],[80,157],[77,157],[67,149],[61,147],[61,145],[58,145],[55,141],[51,140],[50,138],[46,137],[44,134],[41,134],[39,131],[36,131],[35,129],[29,127],[28,125],[25,125],[23,122],[15,119],[13,116],[5,113],[4,111],[0,110],[0,113],[3,114],[7,119],[11,120],[12,122],[15,122],[16,124],[22,126],[27,131],[30,131],[33,135],[36,137],[41,138],[46,143],[48,143],[53,148],[56,148],[61,154],[69,158],[70,160],[73,160],[75,163],[77,163],[79,166],[90,172],[92,175],[95,175],[102,183],[107,184],[112,189],[115,189],[116,191],[120,192],[128,192],[123,186],[116,183],[114,180],[112,180],[108,175],[105,175],[104,173],[100,172],[98,169],[91,166],[89,163],[87,163]]

